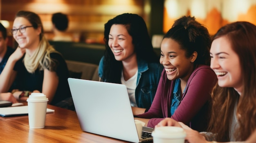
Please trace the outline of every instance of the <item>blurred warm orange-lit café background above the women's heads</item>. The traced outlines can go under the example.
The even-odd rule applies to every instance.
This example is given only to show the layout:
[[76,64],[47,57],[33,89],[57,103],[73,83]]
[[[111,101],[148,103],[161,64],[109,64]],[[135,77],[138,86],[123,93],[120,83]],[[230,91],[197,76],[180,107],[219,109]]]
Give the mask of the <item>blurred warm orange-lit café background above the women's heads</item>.
[[67,33],[74,42],[85,43],[102,44],[104,24],[122,13],[144,18],[155,47],[182,15],[195,16],[211,35],[234,21],[256,24],[256,0],[0,0],[0,6],[0,20],[9,31],[18,11],[33,11],[43,21],[49,40],[53,37],[52,14],[65,13],[70,21]]

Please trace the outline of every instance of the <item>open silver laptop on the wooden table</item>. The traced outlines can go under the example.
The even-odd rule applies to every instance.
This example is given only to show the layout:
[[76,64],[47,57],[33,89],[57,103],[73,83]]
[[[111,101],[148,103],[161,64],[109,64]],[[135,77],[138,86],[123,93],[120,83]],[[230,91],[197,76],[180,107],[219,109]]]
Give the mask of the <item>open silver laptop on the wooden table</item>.
[[[115,139],[140,143],[127,88],[123,84],[68,78],[81,130]],[[153,128],[143,127],[143,133]]]

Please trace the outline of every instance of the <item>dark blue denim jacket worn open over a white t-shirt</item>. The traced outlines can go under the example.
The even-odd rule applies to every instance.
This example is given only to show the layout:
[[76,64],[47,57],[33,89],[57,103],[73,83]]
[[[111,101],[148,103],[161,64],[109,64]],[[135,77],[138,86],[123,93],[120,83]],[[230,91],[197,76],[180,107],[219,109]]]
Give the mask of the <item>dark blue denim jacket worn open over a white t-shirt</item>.
[[[99,63],[99,77],[102,77],[103,75],[103,61],[104,57],[101,58]],[[137,61],[138,77],[135,89],[135,99],[139,108],[148,109],[155,97],[159,79],[164,67],[160,63],[147,63],[141,59],[137,59]]]

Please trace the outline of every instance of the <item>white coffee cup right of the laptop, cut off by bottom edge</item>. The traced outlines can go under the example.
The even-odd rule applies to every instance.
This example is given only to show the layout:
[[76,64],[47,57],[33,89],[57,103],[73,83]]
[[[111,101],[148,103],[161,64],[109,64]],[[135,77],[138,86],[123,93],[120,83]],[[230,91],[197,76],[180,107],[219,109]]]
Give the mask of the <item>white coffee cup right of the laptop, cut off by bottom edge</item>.
[[154,143],[184,143],[186,132],[173,126],[156,127],[151,134]]

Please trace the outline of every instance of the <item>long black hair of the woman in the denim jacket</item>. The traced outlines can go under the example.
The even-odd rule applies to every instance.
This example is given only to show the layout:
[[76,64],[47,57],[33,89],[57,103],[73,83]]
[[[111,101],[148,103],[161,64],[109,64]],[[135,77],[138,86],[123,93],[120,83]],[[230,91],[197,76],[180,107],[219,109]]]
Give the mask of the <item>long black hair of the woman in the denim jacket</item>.
[[117,15],[105,24],[104,41],[106,51],[104,54],[104,68],[102,81],[120,83],[122,62],[117,61],[108,46],[108,36],[110,28],[113,24],[124,25],[132,37],[132,44],[135,47],[137,59],[145,60],[146,62],[159,62],[159,57],[153,50],[153,46],[148,34],[148,29],[143,18],[137,14],[124,13]]

